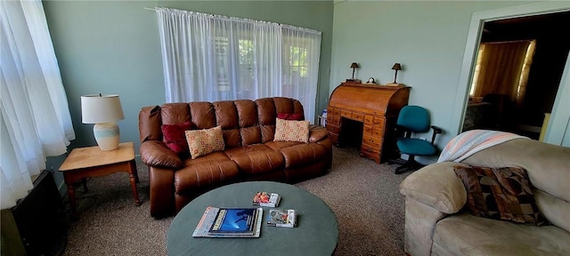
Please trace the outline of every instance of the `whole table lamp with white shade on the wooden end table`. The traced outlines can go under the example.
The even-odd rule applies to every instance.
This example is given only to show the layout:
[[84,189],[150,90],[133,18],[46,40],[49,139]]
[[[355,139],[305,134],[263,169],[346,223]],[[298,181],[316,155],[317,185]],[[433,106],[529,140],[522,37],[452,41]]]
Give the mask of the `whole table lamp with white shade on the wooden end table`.
[[81,96],[81,122],[95,124],[93,133],[101,150],[118,148],[119,131],[116,121],[125,119],[117,94]]

